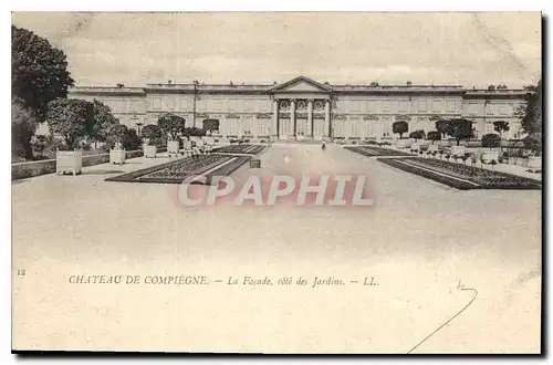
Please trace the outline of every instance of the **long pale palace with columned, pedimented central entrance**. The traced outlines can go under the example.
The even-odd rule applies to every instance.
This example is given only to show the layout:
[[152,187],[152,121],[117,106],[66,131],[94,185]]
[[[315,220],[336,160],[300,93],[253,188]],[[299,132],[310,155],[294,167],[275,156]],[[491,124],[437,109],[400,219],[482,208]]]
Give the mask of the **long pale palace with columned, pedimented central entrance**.
[[219,121],[223,136],[272,136],[278,139],[323,137],[393,137],[392,125],[406,121],[409,133],[436,129],[440,118],[474,122],[477,137],[493,133],[493,122],[505,121],[507,138],[520,138],[514,115],[524,90],[463,88],[459,85],[331,85],[300,76],[282,84],[147,84],[145,87],[79,86],[69,97],[98,100],[122,124],[137,128],[156,124],[167,113],[186,126]]

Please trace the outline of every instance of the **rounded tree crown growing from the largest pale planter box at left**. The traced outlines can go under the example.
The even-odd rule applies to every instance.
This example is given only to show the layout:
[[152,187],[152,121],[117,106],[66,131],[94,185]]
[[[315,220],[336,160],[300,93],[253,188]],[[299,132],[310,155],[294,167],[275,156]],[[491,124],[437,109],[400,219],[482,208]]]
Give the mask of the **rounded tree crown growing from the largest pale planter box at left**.
[[86,135],[93,118],[93,104],[86,101],[58,98],[48,103],[50,132],[60,135],[69,148],[75,147],[79,138]]

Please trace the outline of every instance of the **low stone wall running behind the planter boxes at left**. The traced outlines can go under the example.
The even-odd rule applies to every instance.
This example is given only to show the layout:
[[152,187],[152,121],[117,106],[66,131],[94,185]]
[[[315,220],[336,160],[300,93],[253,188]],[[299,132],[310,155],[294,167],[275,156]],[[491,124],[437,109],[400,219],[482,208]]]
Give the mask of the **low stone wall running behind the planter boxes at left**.
[[[142,150],[128,150],[126,158],[142,157]],[[105,164],[109,161],[109,154],[83,156],[83,167]],[[28,161],[11,165],[11,179],[20,180],[34,176],[55,173],[55,158],[40,161]]]

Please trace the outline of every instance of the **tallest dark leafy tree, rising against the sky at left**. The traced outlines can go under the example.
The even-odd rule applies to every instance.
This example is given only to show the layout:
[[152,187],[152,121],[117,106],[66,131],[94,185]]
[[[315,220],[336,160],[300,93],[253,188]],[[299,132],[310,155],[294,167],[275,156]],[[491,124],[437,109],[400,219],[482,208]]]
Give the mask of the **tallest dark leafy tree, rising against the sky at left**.
[[11,27],[11,92],[44,121],[48,103],[67,96],[73,79],[63,51],[33,32]]

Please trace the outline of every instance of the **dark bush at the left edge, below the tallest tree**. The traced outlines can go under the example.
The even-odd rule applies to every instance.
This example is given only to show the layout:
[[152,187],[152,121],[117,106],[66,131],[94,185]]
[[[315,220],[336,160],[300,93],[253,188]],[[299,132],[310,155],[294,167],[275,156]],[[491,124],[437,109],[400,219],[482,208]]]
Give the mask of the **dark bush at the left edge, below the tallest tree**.
[[33,157],[31,138],[36,131],[38,122],[34,113],[21,101],[11,102],[11,153],[13,156],[31,159]]

